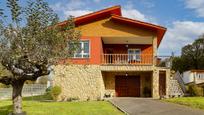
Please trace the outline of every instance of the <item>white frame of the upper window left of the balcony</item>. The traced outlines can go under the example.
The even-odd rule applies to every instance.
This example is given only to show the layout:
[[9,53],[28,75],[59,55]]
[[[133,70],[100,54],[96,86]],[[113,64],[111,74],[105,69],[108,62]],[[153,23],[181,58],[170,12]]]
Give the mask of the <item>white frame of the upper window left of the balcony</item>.
[[[84,43],[85,42],[88,42],[88,45],[89,45],[89,53],[84,53]],[[80,53],[74,53],[74,57],[73,58],[90,58],[90,49],[91,49],[91,47],[90,47],[90,40],[81,40],[81,41],[79,41],[79,43],[80,43],[80,49],[81,49],[81,52]],[[80,54],[81,55],[81,57],[77,57],[76,55],[77,54]],[[84,55],[88,55],[88,57],[84,57]]]

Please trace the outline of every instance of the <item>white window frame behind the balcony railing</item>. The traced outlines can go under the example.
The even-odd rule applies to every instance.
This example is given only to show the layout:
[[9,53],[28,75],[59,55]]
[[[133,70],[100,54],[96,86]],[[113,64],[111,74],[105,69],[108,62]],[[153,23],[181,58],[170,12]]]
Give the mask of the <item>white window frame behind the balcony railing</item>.
[[[130,53],[129,53],[129,51],[130,50],[133,50],[133,52],[134,52],[134,54],[135,54],[135,56],[134,56],[134,54],[131,54],[131,55],[129,55]],[[136,54],[135,52],[136,51],[139,51],[139,54]],[[141,61],[141,49],[139,49],[139,48],[135,48],[135,49],[133,49],[133,48],[131,48],[131,49],[128,49],[128,61],[131,61],[131,60],[133,60],[133,61]],[[130,56],[133,56],[133,57],[130,57]],[[137,58],[139,56],[139,58]],[[133,59],[131,59],[131,58],[133,58]]]

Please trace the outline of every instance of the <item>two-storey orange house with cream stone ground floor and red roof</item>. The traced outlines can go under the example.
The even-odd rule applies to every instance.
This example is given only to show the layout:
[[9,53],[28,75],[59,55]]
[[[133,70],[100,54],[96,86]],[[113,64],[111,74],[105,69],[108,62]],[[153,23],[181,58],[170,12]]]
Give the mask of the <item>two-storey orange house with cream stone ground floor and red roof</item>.
[[71,64],[54,67],[61,100],[168,96],[170,69],[157,67],[165,27],[125,18],[120,6],[74,21],[82,34],[81,50],[68,59]]

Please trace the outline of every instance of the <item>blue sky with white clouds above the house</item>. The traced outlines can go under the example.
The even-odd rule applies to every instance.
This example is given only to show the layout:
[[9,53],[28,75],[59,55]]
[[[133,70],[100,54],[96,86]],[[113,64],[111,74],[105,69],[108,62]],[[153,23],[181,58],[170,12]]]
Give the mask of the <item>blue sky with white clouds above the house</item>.
[[[5,0],[2,0],[5,1]],[[20,0],[25,1],[25,0]],[[204,34],[204,0],[46,0],[59,15],[81,16],[121,5],[124,17],[167,28],[159,55],[180,55],[181,48]],[[1,2],[1,1],[0,1]]]

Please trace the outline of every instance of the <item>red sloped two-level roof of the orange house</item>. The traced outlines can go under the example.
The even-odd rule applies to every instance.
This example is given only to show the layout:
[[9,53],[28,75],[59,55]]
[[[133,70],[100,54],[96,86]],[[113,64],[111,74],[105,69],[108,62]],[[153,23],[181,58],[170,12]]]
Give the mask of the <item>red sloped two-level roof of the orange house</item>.
[[[111,20],[117,21],[119,23],[125,23],[130,26],[135,26],[135,27],[140,27],[151,31],[155,31],[158,37],[157,46],[159,46],[159,44],[161,43],[161,40],[167,30],[165,27],[162,27],[159,25],[122,17],[120,6],[113,6],[100,11],[89,13],[87,15],[76,17],[74,18],[74,21],[75,21],[75,25],[79,26],[79,25],[83,25],[86,23],[90,23],[96,20],[109,18],[109,17],[111,18]],[[63,26],[64,24],[66,24],[66,21],[58,23],[58,25],[60,26]]]

